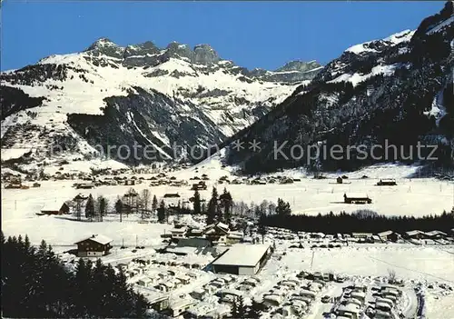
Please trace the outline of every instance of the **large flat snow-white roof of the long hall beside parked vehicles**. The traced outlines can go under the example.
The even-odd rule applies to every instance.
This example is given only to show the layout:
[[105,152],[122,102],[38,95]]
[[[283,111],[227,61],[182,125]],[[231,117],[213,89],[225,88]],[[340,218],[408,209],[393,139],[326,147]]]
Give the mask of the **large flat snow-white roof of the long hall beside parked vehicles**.
[[234,244],[225,254],[222,254],[212,264],[230,264],[238,266],[255,266],[270,244]]

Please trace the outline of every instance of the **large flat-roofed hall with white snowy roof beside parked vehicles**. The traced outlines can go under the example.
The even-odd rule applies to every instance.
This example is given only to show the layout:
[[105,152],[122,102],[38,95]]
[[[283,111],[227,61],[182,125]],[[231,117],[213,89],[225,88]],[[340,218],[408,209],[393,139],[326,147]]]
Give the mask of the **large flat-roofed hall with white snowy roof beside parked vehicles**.
[[212,270],[215,274],[257,274],[270,254],[270,244],[234,244],[212,262]]

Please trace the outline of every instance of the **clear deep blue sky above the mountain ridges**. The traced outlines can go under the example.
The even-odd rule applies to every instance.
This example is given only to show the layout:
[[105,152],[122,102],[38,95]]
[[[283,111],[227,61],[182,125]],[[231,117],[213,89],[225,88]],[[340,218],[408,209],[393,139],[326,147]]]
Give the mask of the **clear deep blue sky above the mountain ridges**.
[[97,38],[119,45],[208,43],[222,58],[275,69],[336,58],[350,45],[405,29],[443,2],[133,2],[5,0],[1,69],[82,51]]

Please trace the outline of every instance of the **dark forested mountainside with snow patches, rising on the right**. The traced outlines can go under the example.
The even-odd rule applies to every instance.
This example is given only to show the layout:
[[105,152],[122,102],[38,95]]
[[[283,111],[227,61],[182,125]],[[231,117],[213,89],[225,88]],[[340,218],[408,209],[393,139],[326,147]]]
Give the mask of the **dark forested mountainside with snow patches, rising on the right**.
[[[240,164],[248,173],[295,166],[348,170],[429,157],[438,158],[432,164],[454,166],[453,38],[449,1],[417,30],[351,46],[311,84],[298,87],[281,105],[224,143],[237,146],[228,147],[227,163]],[[260,143],[260,152],[247,147],[254,140]],[[245,147],[238,147],[237,141]],[[419,143],[437,146],[436,152],[425,147],[418,155]],[[387,144],[397,151],[385,151]],[[319,161],[314,160],[316,151],[309,154],[311,145],[322,145]],[[342,156],[339,151],[329,154],[333,145],[341,146],[334,147],[341,148]],[[354,148],[349,151],[359,146],[366,156]]]

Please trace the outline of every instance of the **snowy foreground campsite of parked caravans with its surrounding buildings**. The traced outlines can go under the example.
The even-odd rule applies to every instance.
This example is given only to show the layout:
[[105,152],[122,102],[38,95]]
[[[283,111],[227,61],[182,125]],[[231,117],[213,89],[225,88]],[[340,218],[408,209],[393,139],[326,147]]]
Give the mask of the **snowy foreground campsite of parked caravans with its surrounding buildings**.
[[[248,235],[222,223],[202,229],[183,225],[183,220],[174,223],[169,233],[162,234],[168,243],[140,257],[124,259],[131,253],[126,253],[130,247],[123,246],[116,247],[123,252],[111,254],[112,240],[100,234],[74,243],[76,254],[96,255],[115,264],[134,289],[148,298],[153,311],[171,317],[222,318],[232,314],[238,304],[250,304],[250,312],[260,312],[265,318],[343,319],[362,314],[369,318],[415,318],[426,312],[423,288],[441,295],[454,294],[452,282],[428,284],[427,278],[400,278],[390,268],[386,268],[388,274],[366,276],[335,271],[335,267],[331,271],[315,271],[313,267],[314,259],[321,258],[319,254],[333,250],[348,252],[348,247],[359,249],[361,244],[370,247],[370,243],[384,249],[392,244],[449,247],[454,244],[454,234],[294,234],[269,228],[262,237],[253,223],[248,223]],[[133,248],[132,252],[141,247]],[[301,262],[295,263],[297,256]],[[62,253],[61,257],[74,263],[74,254]]]

